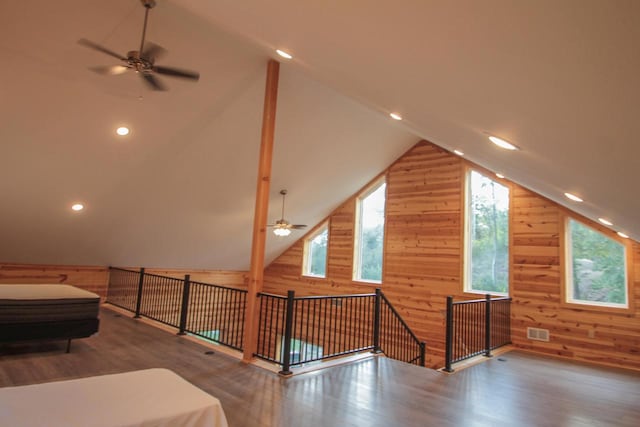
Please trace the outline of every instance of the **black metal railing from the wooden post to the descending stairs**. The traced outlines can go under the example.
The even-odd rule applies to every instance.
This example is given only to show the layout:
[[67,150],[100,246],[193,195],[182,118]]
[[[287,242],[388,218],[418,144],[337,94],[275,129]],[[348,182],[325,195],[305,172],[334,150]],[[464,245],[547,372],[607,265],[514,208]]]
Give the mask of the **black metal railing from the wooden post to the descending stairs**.
[[256,356],[292,366],[362,351],[424,366],[425,345],[380,290],[374,294],[287,297],[260,294]]

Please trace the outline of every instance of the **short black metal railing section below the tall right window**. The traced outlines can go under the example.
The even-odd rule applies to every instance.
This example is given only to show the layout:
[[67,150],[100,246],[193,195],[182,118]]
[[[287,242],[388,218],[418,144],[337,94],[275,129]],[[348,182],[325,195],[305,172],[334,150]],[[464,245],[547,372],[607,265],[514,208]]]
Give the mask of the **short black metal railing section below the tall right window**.
[[447,297],[445,368],[511,343],[511,298],[453,301]]

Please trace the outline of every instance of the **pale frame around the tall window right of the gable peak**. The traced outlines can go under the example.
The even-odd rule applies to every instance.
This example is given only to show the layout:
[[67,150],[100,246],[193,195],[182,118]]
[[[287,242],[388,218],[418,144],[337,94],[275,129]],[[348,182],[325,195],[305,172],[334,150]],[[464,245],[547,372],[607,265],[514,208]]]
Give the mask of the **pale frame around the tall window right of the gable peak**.
[[[463,216],[463,224],[464,228],[462,229],[462,242],[463,242],[463,262],[462,262],[462,290],[465,293],[473,294],[473,295],[494,295],[494,296],[502,296],[509,297],[512,291],[513,284],[513,186],[510,182],[495,176],[494,173],[484,170],[480,167],[471,167],[471,166],[463,166],[464,171],[464,179],[463,179],[463,208],[462,208],[462,216]],[[476,172],[486,179],[496,182],[501,186],[505,187],[509,191],[509,203],[508,203],[508,212],[507,212],[507,292],[489,292],[484,290],[478,290],[472,288],[472,262],[473,262],[473,248],[472,248],[472,235],[471,235],[471,218],[470,215],[472,213],[471,203],[473,201],[472,191],[471,191],[471,173]]]

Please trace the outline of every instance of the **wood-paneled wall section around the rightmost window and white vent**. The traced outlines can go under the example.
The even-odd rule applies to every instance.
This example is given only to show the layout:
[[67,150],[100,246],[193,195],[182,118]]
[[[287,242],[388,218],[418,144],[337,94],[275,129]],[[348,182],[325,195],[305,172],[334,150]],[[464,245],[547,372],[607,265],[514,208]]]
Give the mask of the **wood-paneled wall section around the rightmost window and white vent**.
[[[563,303],[564,208],[519,187],[514,188],[513,197],[513,343],[540,353],[640,369],[637,311]],[[635,242],[631,245],[635,278],[639,247]],[[638,301],[638,288],[637,283],[632,286],[632,302]],[[548,329],[550,341],[527,339],[527,327]]]

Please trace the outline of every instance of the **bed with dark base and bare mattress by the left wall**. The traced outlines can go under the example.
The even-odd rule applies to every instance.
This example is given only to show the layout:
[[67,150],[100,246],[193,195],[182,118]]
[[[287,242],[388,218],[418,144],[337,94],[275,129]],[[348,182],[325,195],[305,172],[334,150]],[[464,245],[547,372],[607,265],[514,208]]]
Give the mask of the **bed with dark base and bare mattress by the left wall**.
[[71,340],[98,332],[100,296],[71,285],[0,285],[0,343]]

